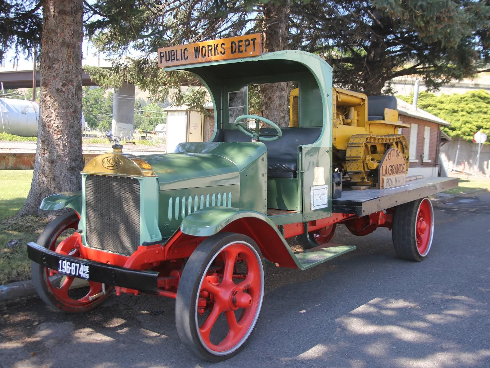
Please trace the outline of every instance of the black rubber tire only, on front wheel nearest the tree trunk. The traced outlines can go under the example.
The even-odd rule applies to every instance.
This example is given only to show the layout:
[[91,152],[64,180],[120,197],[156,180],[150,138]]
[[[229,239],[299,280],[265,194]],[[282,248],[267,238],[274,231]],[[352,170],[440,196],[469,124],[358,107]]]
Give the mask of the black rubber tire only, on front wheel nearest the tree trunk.
[[[77,228],[78,221],[79,218],[74,211],[69,211],[59,215],[48,224],[48,226],[43,230],[43,232],[41,232],[41,234],[37,238],[36,243],[44,248],[48,248],[49,244],[52,243],[53,238],[57,239],[58,236],[63,232],[62,229],[65,230],[70,229],[67,228],[67,226],[70,225],[74,225],[74,227]],[[51,249],[51,251],[54,251],[54,249]],[[57,300],[49,292],[48,285],[45,284],[45,279],[44,279],[45,269],[46,267],[44,267],[43,265],[31,261],[32,285],[34,286],[34,289],[36,290],[36,293],[39,295],[39,297],[56,311],[67,312],[67,313],[86,312],[98,307],[108,297],[109,293],[96,299],[94,303],[90,304],[90,306],[88,307],[61,309],[60,306],[56,304]]]

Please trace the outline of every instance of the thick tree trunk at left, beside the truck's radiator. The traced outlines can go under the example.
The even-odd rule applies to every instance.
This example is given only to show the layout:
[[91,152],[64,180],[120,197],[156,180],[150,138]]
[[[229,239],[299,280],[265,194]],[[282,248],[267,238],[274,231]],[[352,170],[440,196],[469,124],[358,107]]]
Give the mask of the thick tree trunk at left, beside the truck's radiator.
[[80,190],[82,158],[81,0],[43,0],[41,108],[31,189],[18,213],[41,214],[53,193]]

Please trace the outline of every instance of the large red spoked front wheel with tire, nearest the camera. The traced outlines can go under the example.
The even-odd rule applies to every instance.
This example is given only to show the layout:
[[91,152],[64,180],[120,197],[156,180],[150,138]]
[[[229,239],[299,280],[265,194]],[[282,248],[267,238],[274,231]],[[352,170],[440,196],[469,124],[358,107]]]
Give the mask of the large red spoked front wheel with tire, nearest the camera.
[[175,323],[196,356],[219,362],[237,354],[252,333],[264,299],[264,263],[248,236],[219,233],[187,261],[177,289]]

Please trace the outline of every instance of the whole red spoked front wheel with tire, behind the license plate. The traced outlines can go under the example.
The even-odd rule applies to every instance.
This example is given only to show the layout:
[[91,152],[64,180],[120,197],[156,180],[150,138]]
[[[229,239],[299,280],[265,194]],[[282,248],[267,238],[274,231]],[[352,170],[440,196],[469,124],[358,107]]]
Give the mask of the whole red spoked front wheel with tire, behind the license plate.
[[[48,224],[39,235],[37,244],[55,251],[62,238],[72,235],[76,229],[78,229],[76,213],[64,213]],[[78,250],[72,250],[70,255],[77,256],[77,252]],[[36,262],[31,262],[31,275],[32,284],[41,299],[49,306],[64,312],[80,313],[91,310],[102,303],[110,291],[106,288],[105,295],[100,294],[101,283],[61,275],[56,270]],[[92,299],[95,296],[98,298]]]

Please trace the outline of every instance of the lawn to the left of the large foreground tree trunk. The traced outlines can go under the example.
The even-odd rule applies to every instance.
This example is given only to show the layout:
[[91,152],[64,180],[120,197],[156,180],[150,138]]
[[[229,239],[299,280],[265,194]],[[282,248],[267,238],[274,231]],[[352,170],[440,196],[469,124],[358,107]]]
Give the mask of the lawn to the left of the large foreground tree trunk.
[[10,219],[24,205],[32,172],[0,170],[0,285],[30,278],[25,244],[36,241],[46,226],[44,219],[35,216]]

